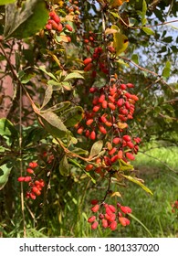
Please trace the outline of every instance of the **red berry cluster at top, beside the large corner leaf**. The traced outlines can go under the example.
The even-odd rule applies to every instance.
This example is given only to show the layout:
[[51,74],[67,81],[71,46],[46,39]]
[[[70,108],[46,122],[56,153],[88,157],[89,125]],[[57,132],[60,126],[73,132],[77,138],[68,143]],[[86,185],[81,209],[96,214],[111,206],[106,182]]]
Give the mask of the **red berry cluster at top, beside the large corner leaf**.
[[[69,24],[62,24],[61,18],[57,15],[55,11],[49,12],[49,19],[47,21],[46,25],[47,30],[55,30],[58,33],[61,33],[63,30],[72,32],[73,28]],[[68,37],[68,42],[71,41],[71,37]]]

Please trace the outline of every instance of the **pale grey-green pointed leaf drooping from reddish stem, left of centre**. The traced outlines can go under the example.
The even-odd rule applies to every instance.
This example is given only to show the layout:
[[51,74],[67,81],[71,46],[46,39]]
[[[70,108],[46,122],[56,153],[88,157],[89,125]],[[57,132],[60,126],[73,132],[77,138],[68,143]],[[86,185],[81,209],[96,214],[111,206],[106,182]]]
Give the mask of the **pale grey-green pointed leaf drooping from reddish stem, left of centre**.
[[40,123],[44,125],[47,132],[52,136],[63,138],[67,135],[68,129],[56,113],[41,112],[38,117],[40,119]]

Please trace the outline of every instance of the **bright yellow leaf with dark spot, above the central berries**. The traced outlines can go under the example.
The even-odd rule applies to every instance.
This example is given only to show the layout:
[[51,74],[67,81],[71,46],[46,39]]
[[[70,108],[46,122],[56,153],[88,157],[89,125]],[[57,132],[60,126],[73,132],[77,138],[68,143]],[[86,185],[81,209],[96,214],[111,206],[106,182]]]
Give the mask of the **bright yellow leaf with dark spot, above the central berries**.
[[124,52],[126,48],[128,48],[128,37],[123,35],[120,28],[116,25],[112,25],[110,28],[117,30],[117,33],[113,34],[113,47],[116,49],[116,55],[120,55],[120,53]]

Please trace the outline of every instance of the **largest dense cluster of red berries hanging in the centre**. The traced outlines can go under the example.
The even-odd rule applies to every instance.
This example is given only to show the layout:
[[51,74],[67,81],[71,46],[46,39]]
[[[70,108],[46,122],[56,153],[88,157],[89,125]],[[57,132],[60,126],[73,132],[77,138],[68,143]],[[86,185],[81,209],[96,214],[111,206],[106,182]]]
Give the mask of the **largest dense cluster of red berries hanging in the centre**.
[[[139,100],[135,94],[128,92],[133,87],[131,83],[120,83],[120,80],[112,78],[110,85],[100,89],[91,87],[89,90],[93,95],[92,110],[85,113],[83,123],[79,123],[77,128],[79,134],[84,134],[90,140],[106,141],[107,155],[96,160],[98,172],[103,166],[110,170],[118,159],[126,163],[134,160],[134,155],[138,153],[141,139],[131,135],[126,123],[133,118],[135,102]],[[91,164],[86,166],[87,171],[92,168]]]

